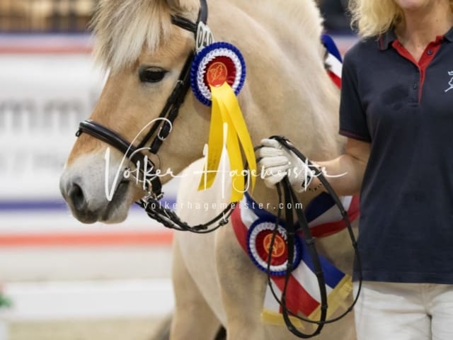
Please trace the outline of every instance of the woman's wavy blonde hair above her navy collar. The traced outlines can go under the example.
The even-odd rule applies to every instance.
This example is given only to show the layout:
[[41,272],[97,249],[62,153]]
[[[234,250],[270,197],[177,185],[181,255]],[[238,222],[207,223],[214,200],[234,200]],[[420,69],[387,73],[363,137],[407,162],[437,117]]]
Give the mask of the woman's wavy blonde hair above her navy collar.
[[[453,11],[453,0],[450,0]],[[363,38],[380,35],[404,20],[394,0],[350,0],[351,25]]]

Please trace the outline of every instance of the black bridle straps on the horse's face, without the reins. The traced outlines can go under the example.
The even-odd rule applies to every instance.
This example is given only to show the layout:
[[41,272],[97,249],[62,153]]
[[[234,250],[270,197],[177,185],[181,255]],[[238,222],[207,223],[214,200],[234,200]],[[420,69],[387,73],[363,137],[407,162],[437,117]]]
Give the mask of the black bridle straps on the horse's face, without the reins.
[[[198,12],[196,23],[193,23],[182,16],[171,16],[171,23],[173,23],[173,25],[192,32],[195,39],[197,35],[197,27],[200,22],[207,22],[206,0],[200,0],[200,11]],[[170,96],[168,96],[164,108],[159,114],[158,119],[156,119],[151,125],[151,128],[149,128],[147,135],[145,135],[142,141],[139,142],[139,145],[132,145],[132,143],[125,140],[125,138],[117,132],[110,130],[94,120],[84,120],[79,124],[79,130],[76,132],[77,137],[79,137],[82,133],[86,133],[87,135],[91,135],[98,140],[106,142],[107,144],[120,150],[120,152],[125,154],[125,157],[132,160],[134,164],[139,164],[147,159],[147,169],[151,170],[147,171],[147,174],[145,174],[145,182],[148,182],[146,179],[149,177],[151,188],[148,188],[147,183],[145,183],[145,186],[147,186],[150,195],[155,200],[159,200],[163,196],[162,183],[159,176],[156,174],[156,164],[154,164],[148,157],[145,157],[142,150],[149,145],[146,149],[151,152],[151,154],[157,154],[162,143],[170,134],[173,122],[176,120],[176,117],[178,117],[179,108],[184,103],[185,96],[188,94],[188,90],[190,89],[190,66],[192,65],[194,57],[195,50],[190,52],[185,60],[184,66],[179,74],[178,81],[176,81],[173,91]],[[151,142],[149,142],[150,140]]]

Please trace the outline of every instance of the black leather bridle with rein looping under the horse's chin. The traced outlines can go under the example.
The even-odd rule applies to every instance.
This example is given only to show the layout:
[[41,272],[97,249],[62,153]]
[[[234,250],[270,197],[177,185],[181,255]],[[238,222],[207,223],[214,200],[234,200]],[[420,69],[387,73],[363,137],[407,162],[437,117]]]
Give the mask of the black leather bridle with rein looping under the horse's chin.
[[[200,0],[200,11],[198,12],[197,22],[193,23],[187,18],[182,16],[171,16],[171,22],[183,30],[188,30],[193,33],[195,42],[197,42],[197,30],[200,23],[207,23],[207,2],[206,0]],[[222,225],[228,222],[228,218],[231,215],[232,209],[235,203],[230,203],[226,208],[212,220],[200,224],[191,226],[188,223],[180,220],[173,210],[165,208],[159,200],[164,196],[162,193],[162,183],[160,177],[157,174],[156,164],[151,161],[142,152],[143,149],[147,149],[151,154],[157,154],[162,143],[171,132],[173,122],[178,117],[178,111],[180,106],[184,103],[185,96],[188,94],[190,89],[190,67],[192,66],[193,59],[195,57],[195,47],[192,52],[188,55],[185,60],[184,66],[180,71],[178,81],[173,88],[170,96],[168,96],[164,108],[159,114],[158,118],[154,120],[151,128],[149,128],[147,134],[143,137],[142,141],[138,145],[132,145],[119,135],[117,132],[110,130],[104,125],[95,122],[94,120],[84,120],[79,124],[79,130],[76,132],[76,136],[79,137],[82,133],[91,135],[92,137],[102,140],[109,145],[112,145],[116,149],[120,150],[125,157],[130,159],[134,164],[142,164],[147,160],[148,164],[146,174],[144,174],[144,186],[148,191],[148,196],[142,198],[137,202],[147,212],[149,217],[157,222],[160,222],[165,227],[176,229],[180,231],[190,231],[199,234],[205,234],[212,232]],[[154,137],[154,138],[153,138]],[[152,140],[151,142],[149,142]],[[146,147],[149,145],[149,147]],[[141,169],[143,171],[143,169]],[[151,187],[149,184],[151,184]]]

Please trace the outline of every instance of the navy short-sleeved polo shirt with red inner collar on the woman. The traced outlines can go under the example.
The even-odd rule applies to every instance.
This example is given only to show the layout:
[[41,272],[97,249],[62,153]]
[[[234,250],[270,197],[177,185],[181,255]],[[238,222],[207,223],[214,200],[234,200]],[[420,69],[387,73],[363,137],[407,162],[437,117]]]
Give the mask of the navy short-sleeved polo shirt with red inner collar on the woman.
[[340,134],[371,143],[358,240],[365,280],[453,283],[452,40],[453,28],[416,62],[390,30],[345,55]]

